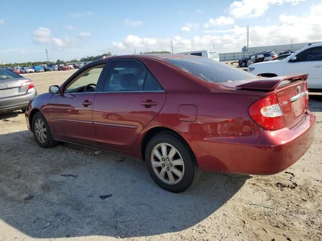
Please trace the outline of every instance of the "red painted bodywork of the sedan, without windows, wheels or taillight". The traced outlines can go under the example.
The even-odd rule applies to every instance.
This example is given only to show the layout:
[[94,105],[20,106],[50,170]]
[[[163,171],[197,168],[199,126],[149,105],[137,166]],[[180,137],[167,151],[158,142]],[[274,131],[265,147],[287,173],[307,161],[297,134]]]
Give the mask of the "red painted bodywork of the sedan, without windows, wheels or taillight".
[[[210,83],[162,59],[179,56],[187,57],[115,56],[92,62],[79,71],[110,59],[140,60],[165,91],[46,93],[29,104],[27,125],[33,111],[41,111],[56,140],[138,159],[142,159],[145,135],[153,128],[164,127],[186,140],[202,170],[229,173],[277,173],[308,150],[313,140],[315,116],[305,108],[305,97],[300,99],[305,111],[298,116],[292,115],[291,103],[282,106],[286,127],[279,130],[261,128],[248,113],[254,102],[273,93],[280,103],[289,99],[298,85],[305,86],[304,75],[283,86],[278,86],[281,82],[278,77],[273,79],[274,84],[262,80],[258,85],[262,90],[257,90],[256,81],[252,80]],[[74,73],[60,89],[78,74],[78,71]],[[246,83],[250,83],[247,88]]]

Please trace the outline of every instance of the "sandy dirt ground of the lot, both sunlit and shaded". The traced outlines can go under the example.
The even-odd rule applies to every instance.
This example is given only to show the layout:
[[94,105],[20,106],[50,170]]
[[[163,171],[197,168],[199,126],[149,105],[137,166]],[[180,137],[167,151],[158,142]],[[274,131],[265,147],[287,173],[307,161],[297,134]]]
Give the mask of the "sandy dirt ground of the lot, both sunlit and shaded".
[[[72,72],[25,76],[43,93]],[[0,240],[322,240],[321,94],[309,108],[314,142],[285,172],[203,173],[179,194],[156,186],[143,162],[70,144],[43,149],[21,111],[2,114]]]

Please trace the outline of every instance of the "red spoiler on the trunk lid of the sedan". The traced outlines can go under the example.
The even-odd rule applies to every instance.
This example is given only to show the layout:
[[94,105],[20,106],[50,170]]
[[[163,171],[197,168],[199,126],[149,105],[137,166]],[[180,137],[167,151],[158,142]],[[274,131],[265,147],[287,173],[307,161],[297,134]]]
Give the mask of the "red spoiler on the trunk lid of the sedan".
[[308,74],[297,74],[291,76],[277,76],[268,79],[255,80],[245,84],[237,85],[241,89],[257,89],[257,90],[274,90],[280,85],[288,84],[298,80],[306,81]]

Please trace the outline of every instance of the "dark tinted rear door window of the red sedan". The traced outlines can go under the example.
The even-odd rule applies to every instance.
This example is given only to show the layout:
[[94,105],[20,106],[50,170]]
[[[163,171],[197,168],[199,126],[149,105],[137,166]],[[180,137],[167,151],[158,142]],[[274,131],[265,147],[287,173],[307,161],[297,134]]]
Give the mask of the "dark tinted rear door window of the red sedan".
[[112,62],[103,91],[153,91],[162,90],[157,80],[137,61]]

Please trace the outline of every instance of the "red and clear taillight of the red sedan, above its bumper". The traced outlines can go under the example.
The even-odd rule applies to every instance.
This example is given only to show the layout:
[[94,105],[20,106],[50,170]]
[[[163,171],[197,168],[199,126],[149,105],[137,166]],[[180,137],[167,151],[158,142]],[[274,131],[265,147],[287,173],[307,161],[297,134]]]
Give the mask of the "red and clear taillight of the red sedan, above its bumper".
[[248,112],[254,121],[266,130],[274,131],[285,127],[284,113],[276,93],[254,102]]

